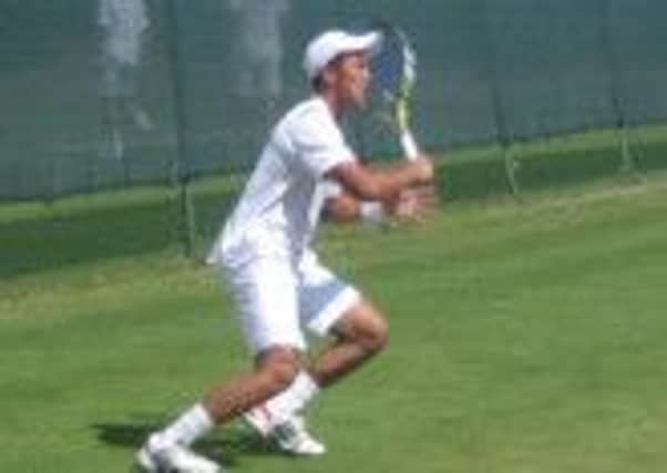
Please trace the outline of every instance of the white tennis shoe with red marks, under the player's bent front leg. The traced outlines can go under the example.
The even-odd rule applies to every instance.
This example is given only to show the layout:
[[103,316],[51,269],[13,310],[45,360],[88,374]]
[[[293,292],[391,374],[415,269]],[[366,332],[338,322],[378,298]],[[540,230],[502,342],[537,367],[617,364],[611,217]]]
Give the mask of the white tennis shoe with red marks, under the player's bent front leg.
[[310,435],[306,429],[306,422],[300,415],[278,420],[266,407],[260,405],[246,412],[244,420],[261,436],[274,442],[286,453],[298,456],[318,456],[327,452],[327,448]]

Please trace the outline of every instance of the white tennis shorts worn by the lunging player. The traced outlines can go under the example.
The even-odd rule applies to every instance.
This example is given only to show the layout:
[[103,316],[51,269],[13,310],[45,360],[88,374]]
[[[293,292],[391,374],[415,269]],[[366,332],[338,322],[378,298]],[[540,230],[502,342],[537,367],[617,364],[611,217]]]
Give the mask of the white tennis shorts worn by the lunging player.
[[225,268],[246,342],[254,353],[274,346],[305,351],[308,331],[325,337],[360,300],[360,295],[317,258],[295,268],[278,258],[257,258],[239,268]]

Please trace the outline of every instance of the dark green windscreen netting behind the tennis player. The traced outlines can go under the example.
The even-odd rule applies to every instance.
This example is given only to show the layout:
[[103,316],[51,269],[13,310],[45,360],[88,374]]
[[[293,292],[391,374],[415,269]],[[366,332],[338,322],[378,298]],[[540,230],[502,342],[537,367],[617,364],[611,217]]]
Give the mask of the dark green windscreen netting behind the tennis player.
[[414,42],[434,152],[667,116],[660,0],[0,0],[0,198],[245,168],[308,93],[306,41],[378,17]]

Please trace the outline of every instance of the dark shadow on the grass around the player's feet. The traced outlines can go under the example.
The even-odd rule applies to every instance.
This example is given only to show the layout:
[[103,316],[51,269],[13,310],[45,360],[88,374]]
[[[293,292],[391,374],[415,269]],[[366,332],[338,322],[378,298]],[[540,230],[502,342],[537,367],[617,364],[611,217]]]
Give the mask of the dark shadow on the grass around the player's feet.
[[[93,424],[92,429],[107,445],[138,450],[152,432],[163,426],[158,422],[102,422]],[[249,428],[237,423],[198,441],[195,450],[225,466],[238,465],[244,455],[284,455]]]

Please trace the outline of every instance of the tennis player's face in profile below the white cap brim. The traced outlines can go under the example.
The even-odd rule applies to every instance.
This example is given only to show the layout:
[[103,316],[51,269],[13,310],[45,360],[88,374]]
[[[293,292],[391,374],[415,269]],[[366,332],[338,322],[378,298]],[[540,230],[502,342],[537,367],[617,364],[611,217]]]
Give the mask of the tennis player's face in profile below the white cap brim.
[[369,55],[367,52],[342,54],[325,71],[325,81],[343,106],[362,107],[370,83]]

